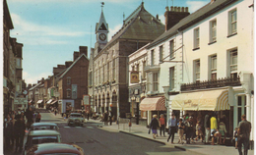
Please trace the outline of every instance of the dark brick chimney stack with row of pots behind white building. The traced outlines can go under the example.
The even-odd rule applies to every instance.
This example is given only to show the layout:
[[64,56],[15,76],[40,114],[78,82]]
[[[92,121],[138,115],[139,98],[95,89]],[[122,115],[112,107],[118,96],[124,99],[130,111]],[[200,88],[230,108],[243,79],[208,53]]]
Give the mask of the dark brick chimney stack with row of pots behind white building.
[[171,6],[170,11],[168,11],[168,9],[165,10],[165,31],[167,31],[172,26],[175,26],[177,23],[179,23],[180,20],[190,15],[190,13],[188,12],[188,7],[180,8]]

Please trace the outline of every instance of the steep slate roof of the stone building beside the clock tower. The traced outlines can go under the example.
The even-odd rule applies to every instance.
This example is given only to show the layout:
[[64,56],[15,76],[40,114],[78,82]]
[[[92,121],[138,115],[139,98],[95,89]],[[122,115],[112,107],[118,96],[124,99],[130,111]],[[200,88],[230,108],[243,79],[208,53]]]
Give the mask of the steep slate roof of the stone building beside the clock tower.
[[101,51],[111,46],[117,39],[154,40],[162,32],[164,32],[164,25],[144,8],[144,2],[142,2]]

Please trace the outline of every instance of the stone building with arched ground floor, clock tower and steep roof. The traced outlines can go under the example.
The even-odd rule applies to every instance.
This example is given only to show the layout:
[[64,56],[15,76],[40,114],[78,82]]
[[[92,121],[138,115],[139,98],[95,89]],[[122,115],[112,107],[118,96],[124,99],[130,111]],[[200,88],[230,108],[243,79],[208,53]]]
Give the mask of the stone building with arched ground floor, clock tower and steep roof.
[[89,68],[89,94],[97,113],[111,110],[114,118],[124,118],[130,113],[128,55],[156,39],[163,31],[160,20],[153,17],[142,2],[107,42],[108,25],[101,11]]

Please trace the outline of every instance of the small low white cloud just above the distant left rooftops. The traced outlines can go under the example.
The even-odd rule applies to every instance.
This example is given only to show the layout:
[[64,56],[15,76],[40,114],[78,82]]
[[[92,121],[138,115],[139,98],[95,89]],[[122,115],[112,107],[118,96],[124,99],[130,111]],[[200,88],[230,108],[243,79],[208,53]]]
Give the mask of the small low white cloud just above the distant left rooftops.
[[41,78],[48,78],[48,76],[52,75],[52,73],[40,73],[38,75],[31,75],[27,72],[23,72],[23,78],[26,79],[26,83],[37,83],[37,80],[40,80]]

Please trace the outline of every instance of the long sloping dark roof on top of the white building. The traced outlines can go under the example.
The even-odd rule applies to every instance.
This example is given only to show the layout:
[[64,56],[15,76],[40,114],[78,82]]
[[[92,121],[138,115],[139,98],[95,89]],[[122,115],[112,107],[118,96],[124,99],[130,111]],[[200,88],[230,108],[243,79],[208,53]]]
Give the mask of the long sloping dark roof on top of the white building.
[[166,32],[162,33],[160,37],[154,40],[147,49],[154,47],[155,45],[159,44],[160,42],[168,39],[172,35],[178,33],[177,31],[183,30],[189,26],[193,26],[194,24],[208,18],[209,16],[213,15],[214,13],[222,10],[224,7],[228,6],[232,2],[237,0],[216,0],[215,2],[210,2],[204,7],[200,8],[198,11],[190,14],[186,18],[182,19],[178,24],[169,28]]

